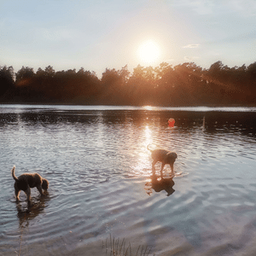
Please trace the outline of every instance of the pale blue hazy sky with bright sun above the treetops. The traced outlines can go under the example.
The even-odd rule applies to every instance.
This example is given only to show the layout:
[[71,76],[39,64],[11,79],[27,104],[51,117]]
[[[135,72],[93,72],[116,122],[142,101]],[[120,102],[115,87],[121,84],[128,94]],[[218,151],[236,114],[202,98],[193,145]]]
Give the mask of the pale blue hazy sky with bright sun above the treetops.
[[55,71],[256,61],[256,0],[0,0],[0,66]]

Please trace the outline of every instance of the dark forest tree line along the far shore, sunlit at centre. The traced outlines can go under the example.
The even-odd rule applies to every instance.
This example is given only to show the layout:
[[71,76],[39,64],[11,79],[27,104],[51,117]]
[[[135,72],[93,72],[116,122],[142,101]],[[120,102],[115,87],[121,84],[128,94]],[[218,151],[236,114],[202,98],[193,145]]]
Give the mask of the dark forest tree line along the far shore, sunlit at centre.
[[256,106],[256,62],[241,67],[217,61],[208,69],[194,62],[129,72],[106,68],[102,79],[83,67],[55,72],[49,66],[0,67],[0,102],[88,105]]

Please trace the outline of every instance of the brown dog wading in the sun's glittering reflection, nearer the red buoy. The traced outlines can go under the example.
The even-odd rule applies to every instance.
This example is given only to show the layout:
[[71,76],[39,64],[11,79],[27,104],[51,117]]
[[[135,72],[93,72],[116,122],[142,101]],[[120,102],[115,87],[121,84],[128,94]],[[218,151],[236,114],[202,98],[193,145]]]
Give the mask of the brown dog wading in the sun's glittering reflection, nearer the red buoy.
[[166,165],[170,165],[171,170],[172,170],[172,176],[174,176],[173,164],[174,164],[175,160],[177,159],[177,154],[175,152],[170,152],[170,151],[167,151],[165,149],[154,149],[154,150],[152,150],[152,149],[148,148],[148,150],[151,152],[151,157],[153,159],[153,162],[152,162],[153,175],[155,174],[154,165],[157,162],[161,162],[161,169],[160,169],[161,177],[163,177],[163,169]]

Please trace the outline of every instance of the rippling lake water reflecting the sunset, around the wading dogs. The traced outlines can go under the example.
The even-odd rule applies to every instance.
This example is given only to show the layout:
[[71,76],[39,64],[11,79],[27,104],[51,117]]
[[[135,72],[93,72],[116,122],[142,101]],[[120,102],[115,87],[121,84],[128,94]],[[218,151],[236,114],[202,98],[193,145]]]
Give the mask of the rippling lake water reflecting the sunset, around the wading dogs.
[[[167,166],[152,183],[149,143],[177,152],[174,184]],[[0,150],[0,255],[105,255],[110,234],[134,254],[256,253],[256,108],[0,105]],[[31,208],[14,165],[49,180]]]

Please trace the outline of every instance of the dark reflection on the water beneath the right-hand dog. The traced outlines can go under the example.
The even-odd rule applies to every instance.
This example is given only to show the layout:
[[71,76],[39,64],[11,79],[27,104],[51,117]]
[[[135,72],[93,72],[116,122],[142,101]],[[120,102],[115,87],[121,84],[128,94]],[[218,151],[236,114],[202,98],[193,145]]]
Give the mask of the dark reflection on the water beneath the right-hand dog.
[[174,184],[175,183],[172,177],[158,179],[155,175],[153,175],[151,182],[145,184],[145,190],[148,195],[152,194],[152,189],[154,189],[155,192],[166,190],[167,196],[169,196],[172,195],[172,193],[175,191],[172,189]]

